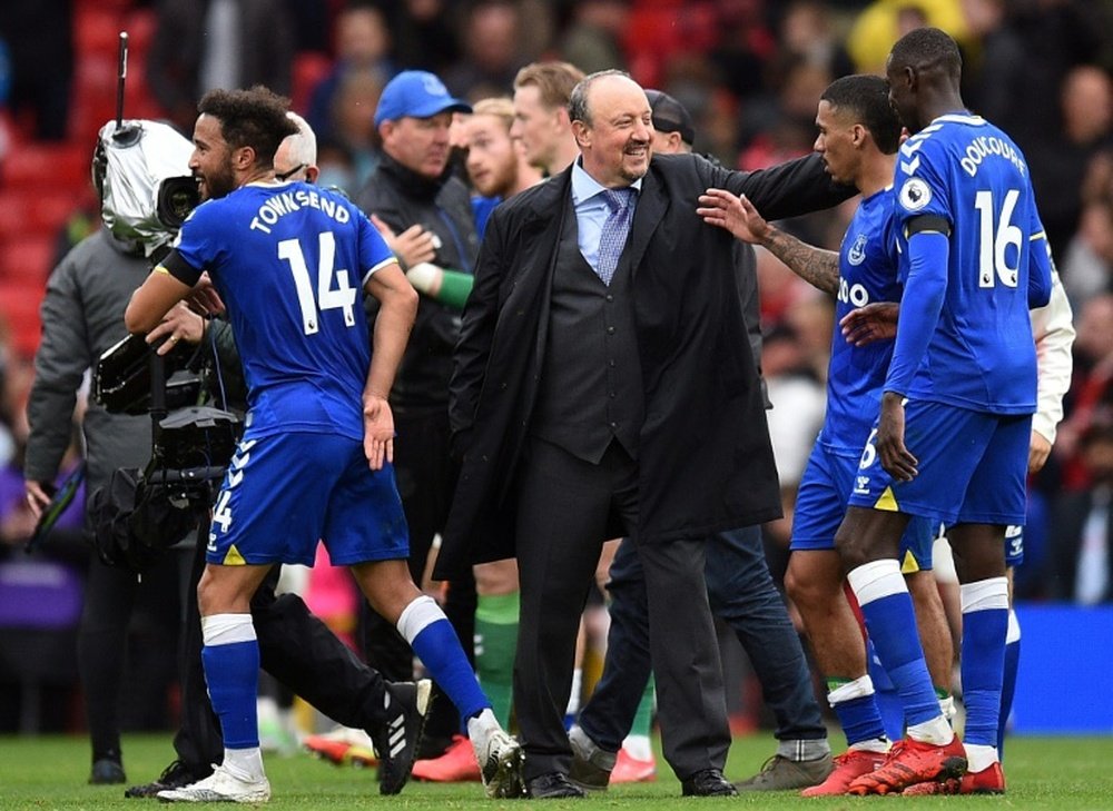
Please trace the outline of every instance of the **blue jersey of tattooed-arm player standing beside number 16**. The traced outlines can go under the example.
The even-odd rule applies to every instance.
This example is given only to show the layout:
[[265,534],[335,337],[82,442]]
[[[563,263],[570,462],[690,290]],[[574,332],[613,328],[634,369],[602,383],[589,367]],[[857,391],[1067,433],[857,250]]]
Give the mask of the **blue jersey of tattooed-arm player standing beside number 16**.
[[839,287],[835,334],[827,372],[827,416],[819,441],[836,451],[861,453],[880,411],[881,387],[893,355],[893,342],[864,347],[848,344],[839,320],[874,301],[899,301],[893,189],[861,201],[839,249]]

